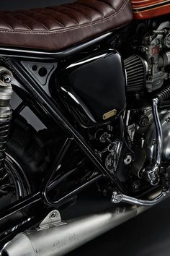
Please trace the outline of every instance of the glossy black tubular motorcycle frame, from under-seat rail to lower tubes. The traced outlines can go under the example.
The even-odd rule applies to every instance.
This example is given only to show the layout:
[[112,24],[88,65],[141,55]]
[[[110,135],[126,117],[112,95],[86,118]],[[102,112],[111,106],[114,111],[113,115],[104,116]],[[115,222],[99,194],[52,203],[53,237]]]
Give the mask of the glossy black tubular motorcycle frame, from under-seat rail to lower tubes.
[[[35,80],[33,80],[31,75],[26,72],[26,70],[22,67],[21,64],[19,64],[19,61],[21,61],[22,59],[32,59],[35,61],[43,60],[44,62],[57,62],[58,59],[66,58],[68,56],[71,56],[72,54],[77,54],[80,51],[84,51],[84,49],[86,49],[87,47],[91,47],[95,44],[97,45],[99,43],[102,43],[102,41],[106,40],[107,38],[108,40],[111,40],[110,37],[112,38],[112,33],[107,33],[105,35],[100,36],[99,38],[89,41],[88,43],[84,43],[81,46],[76,46],[61,53],[45,53],[14,48],[0,48],[0,61],[5,64],[6,68],[12,70],[17,81],[19,81],[22,84],[22,88],[28,93],[28,97],[30,97],[31,99],[36,99],[36,104],[38,104],[38,107],[41,108],[42,115],[48,114],[48,116],[50,116],[50,119],[53,119],[53,121],[57,125],[59,125],[64,132],[66,132],[66,141],[64,142],[63,147],[61,148],[61,151],[58,154],[58,158],[55,161],[55,165],[45,177],[44,182],[42,183],[41,191],[37,192],[35,195],[30,195],[24,198],[23,200],[20,200],[14,205],[9,205],[9,208],[7,208],[4,211],[4,213],[0,214],[0,222],[8,220],[8,218],[10,218],[10,216],[12,216],[13,213],[30,208],[30,206],[40,205],[42,204],[42,202],[43,204],[46,205],[45,209],[48,209],[49,207],[60,208],[63,204],[66,204],[66,202],[68,202],[69,200],[71,200],[71,198],[77,195],[77,193],[79,193],[82,189],[84,189],[85,187],[89,186],[94,182],[97,182],[99,179],[103,177],[108,177],[108,179],[112,181],[112,183],[115,185],[115,188],[122,190],[120,185],[117,184],[117,182],[115,181],[114,176],[112,176],[112,174],[110,174],[109,171],[107,171],[107,169],[104,167],[104,164],[102,163],[102,160],[99,157],[99,155],[97,155],[97,153],[94,152],[94,149],[91,148],[91,146],[89,146],[86,140],[84,140],[84,137],[81,136],[79,131],[77,131],[71,125],[68,119],[66,119],[66,116],[63,116],[60,108],[57,106],[53,98],[51,98],[50,95],[48,95],[48,93],[45,92],[45,90],[42,90],[41,86]],[[25,106],[27,106],[27,103],[23,101],[14,111],[14,117],[17,114],[19,114],[19,112],[21,112]],[[50,181],[53,177],[54,171],[56,170],[56,168],[58,168],[58,165],[61,163],[63,156],[66,154],[73,140],[74,142],[76,142],[79,148],[86,154],[86,157],[89,158],[91,163],[93,163],[93,165],[97,169],[97,173],[95,173],[94,176],[92,176],[88,182],[82,184],[81,187],[75,189],[69,195],[61,198],[61,200],[53,202],[50,200],[47,193],[48,188],[50,187]],[[34,223],[40,221],[41,219],[41,215],[39,216],[39,218],[32,218],[32,221],[30,221],[28,226],[32,226]],[[17,230],[24,230],[25,225],[26,224],[23,223],[23,225],[20,226]],[[4,238],[4,242],[7,242],[15,234],[17,234],[17,230],[6,236]]]

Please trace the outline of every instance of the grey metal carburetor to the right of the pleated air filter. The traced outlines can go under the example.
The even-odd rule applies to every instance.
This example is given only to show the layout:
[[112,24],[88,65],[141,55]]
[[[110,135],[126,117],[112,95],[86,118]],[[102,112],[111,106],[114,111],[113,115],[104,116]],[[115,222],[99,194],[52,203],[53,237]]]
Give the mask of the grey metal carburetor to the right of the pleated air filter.
[[146,88],[148,92],[158,90],[169,79],[165,67],[170,64],[170,23],[164,22],[158,30],[146,35],[140,48],[145,54],[148,67],[146,67]]

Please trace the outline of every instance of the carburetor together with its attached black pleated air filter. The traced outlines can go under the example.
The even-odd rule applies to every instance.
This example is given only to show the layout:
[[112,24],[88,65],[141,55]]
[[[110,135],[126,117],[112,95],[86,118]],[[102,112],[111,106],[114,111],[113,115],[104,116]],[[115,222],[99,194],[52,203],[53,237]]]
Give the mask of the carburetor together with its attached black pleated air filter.
[[166,67],[170,64],[170,22],[144,36],[138,54],[125,59],[128,92],[148,90],[152,93],[169,79]]

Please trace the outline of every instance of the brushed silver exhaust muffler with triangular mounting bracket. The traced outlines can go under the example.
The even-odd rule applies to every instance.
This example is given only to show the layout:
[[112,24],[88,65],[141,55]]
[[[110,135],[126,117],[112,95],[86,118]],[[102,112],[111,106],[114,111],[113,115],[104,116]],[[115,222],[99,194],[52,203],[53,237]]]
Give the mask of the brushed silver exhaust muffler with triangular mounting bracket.
[[[166,197],[168,197],[167,195]],[[152,195],[152,197],[155,197]],[[165,197],[164,197],[165,198]],[[1,251],[1,256],[61,256],[148,210],[126,205],[105,213],[61,221],[58,210],[49,213],[37,229],[20,233]]]

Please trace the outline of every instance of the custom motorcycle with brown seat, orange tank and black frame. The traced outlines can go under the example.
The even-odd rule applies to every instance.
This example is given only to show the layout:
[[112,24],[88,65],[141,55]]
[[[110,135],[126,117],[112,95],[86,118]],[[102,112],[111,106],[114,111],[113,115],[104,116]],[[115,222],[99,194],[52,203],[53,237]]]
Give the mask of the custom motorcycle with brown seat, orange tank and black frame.
[[[169,197],[169,12],[161,0],[0,12],[2,256],[66,255]],[[88,187],[112,207],[63,221]]]

